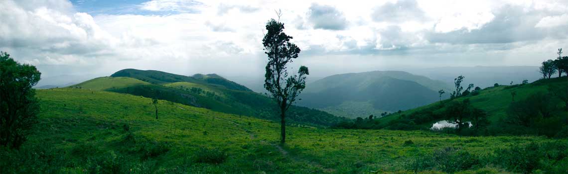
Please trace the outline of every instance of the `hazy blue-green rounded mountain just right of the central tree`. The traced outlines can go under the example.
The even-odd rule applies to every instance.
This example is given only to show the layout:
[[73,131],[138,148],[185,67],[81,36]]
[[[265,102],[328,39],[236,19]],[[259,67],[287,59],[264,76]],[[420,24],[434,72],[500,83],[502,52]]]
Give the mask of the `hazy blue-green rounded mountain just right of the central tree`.
[[350,118],[380,116],[437,101],[441,89],[450,91],[444,82],[404,71],[338,74],[307,84],[299,105]]

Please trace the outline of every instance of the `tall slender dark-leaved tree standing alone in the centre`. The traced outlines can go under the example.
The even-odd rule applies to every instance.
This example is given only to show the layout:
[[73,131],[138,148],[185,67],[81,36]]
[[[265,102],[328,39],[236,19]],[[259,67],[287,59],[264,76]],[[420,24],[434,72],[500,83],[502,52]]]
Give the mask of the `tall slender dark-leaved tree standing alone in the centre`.
[[[279,15],[279,14],[278,14]],[[286,142],[286,111],[296,101],[296,97],[306,88],[308,67],[300,66],[297,75],[289,75],[286,64],[298,58],[300,48],[290,43],[292,36],[283,32],[284,24],[270,19],[266,23],[268,31],[262,39],[262,45],[268,56],[264,88],[272,94],[272,98],[280,109],[280,143]]]

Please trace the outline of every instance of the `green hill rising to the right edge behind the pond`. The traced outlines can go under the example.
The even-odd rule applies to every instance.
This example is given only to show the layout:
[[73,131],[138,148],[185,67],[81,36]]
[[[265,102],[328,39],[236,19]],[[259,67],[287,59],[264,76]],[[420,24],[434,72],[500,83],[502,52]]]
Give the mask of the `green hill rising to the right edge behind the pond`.
[[[467,95],[454,99],[456,101],[469,100],[471,106],[474,108],[482,109],[487,113],[489,126],[487,128],[488,134],[533,134],[554,136],[566,136],[565,132],[568,129],[566,122],[566,104],[562,101],[557,94],[551,89],[556,89],[561,92],[560,94],[566,95],[566,77],[541,79],[528,84],[516,84],[512,86],[498,86],[488,87],[478,91],[477,95]],[[555,91],[556,91],[555,90]],[[515,96],[513,99],[512,93]],[[534,96],[542,96],[542,99],[536,99]],[[531,101],[532,100],[532,101]],[[541,107],[536,108],[539,112],[548,112],[550,116],[540,118],[541,122],[538,128],[527,126],[516,126],[510,124],[515,122],[509,118],[507,113],[511,105],[519,102],[535,102],[526,107]],[[544,103],[544,102],[548,103]],[[441,114],[448,108],[450,100],[432,103],[423,107],[409,109],[400,113],[393,113],[378,120],[380,122],[377,128],[387,129],[424,129],[432,128],[432,124],[437,121],[443,120]],[[538,114],[533,116],[539,117]],[[552,119],[552,120],[550,120]],[[559,119],[559,120],[554,120]],[[539,124],[538,122],[534,124]],[[542,130],[550,130],[544,133]]]

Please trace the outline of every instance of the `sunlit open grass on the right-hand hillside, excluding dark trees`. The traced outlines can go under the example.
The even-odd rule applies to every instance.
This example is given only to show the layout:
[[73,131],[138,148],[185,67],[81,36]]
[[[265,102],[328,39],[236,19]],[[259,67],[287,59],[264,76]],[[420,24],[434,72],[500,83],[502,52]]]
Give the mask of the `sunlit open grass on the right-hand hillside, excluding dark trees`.
[[[514,91],[516,92],[515,101],[524,100],[529,95],[536,94],[537,92],[544,92],[548,93],[548,88],[550,86],[566,86],[566,77],[562,78],[553,78],[553,79],[541,79],[537,80],[533,83],[523,84],[523,85],[513,85],[513,86],[499,86],[499,87],[488,87],[483,89],[479,92],[479,95],[476,96],[465,96],[459,97],[458,101],[462,101],[465,99],[469,99],[471,101],[471,105],[475,108],[483,109],[488,114],[488,118],[492,123],[499,121],[500,119],[504,119],[507,116],[507,108],[512,103],[512,95],[511,93]],[[550,96],[554,97],[554,96]],[[442,102],[446,102],[444,100]],[[557,107],[562,107],[560,101]],[[440,105],[440,102],[432,103],[429,105],[424,105],[422,107],[408,109],[407,111],[403,111],[401,113],[394,113],[390,114],[389,116],[381,118],[381,124],[383,126],[389,126],[389,122],[392,120],[396,120],[400,118],[402,115],[412,115],[414,113],[436,108]],[[433,109],[433,110],[440,110],[440,109]],[[436,111],[435,111],[436,112]],[[423,124],[422,126],[425,129],[429,129],[432,126],[433,122],[439,120],[432,120]]]

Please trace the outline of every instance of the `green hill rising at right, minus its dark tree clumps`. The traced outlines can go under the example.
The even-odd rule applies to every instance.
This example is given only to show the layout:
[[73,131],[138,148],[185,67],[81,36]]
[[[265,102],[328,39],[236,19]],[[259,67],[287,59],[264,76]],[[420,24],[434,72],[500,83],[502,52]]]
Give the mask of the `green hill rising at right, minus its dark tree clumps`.
[[[558,118],[563,118],[563,121],[557,120],[554,122],[557,122],[559,124],[551,123],[541,126],[549,127],[551,129],[555,129],[556,131],[562,131],[566,130],[566,115],[568,115],[568,113],[565,111],[565,103],[556,95],[554,95],[549,90],[549,88],[560,88],[559,91],[566,92],[566,85],[566,77],[541,79],[528,84],[488,87],[479,91],[478,95],[458,97],[455,100],[463,101],[467,99],[470,101],[471,106],[485,111],[488,114],[488,120],[490,121],[489,131],[494,131],[495,133],[512,133],[517,130],[520,131],[523,128],[514,128],[517,130],[504,130],[506,129],[505,124],[506,122],[508,122],[507,110],[509,106],[515,101],[524,101],[527,100],[529,96],[542,94],[546,96],[546,99],[549,99],[550,102],[552,102],[552,104],[550,104],[550,107],[554,109],[552,116],[559,116]],[[562,88],[564,90],[562,90]],[[514,101],[512,97],[513,92],[515,92]],[[395,124],[395,122],[398,122],[399,124],[403,124],[402,127],[412,127],[412,129],[429,129],[432,127],[432,124],[434,122],[441,120],[440,118],[436,118],[435,116],[442,114],[444,109],[446,109],[445,103],[448,102],[449,100],[444,100],[441,102],[424,105],[423,107],[409,109],[400,113],[390,114],[379,119],[378,122],[380,122],[380,124],[377,127],[398,129],[394,128],[395,126],[401,126]],[[564,127],[562,127],[562,125],[564,125]],[[533,130],[525,130],[524,132],[521,131],[520,133],[523,134],[529,131]]]

